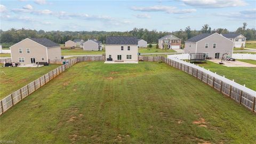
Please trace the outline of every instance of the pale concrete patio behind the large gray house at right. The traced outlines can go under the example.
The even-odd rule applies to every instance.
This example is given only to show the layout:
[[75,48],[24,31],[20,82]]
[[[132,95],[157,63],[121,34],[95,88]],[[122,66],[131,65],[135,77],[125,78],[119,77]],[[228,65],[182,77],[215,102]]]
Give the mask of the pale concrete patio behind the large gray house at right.
[[[221,61],[220,59],[212,59],[209,60],[212,61],[214,63],[218,63]],[[226,66],[226,67],[256,67],[256,65],[253,65],[251,63],[247,63],[247,62],[243,62],[243,61],[223,61],[224,65],[222,66]]]

